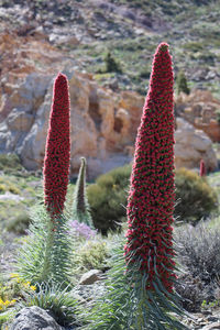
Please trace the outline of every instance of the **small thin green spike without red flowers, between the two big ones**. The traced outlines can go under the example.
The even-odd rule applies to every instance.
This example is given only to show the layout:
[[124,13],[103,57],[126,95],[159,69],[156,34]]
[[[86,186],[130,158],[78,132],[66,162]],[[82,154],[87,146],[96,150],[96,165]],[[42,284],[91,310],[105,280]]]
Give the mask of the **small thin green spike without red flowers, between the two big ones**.
[[81,165],[74,194],[73,218],[78,222],[84,222],[90,228],[94,228],[86,194],[86,158],[84,157],[81,157]]

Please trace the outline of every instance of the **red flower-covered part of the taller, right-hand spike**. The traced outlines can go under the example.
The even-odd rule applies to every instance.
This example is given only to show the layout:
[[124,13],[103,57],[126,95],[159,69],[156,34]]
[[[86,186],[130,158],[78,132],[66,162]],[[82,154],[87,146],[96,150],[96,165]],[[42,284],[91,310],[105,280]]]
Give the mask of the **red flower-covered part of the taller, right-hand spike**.
[[168,292],[175,277],[173,261],[174,98],[168,45],[154,55],[150,89],[135,142],[128,202],[127,262],[140,263],[146,288],[158,277]]

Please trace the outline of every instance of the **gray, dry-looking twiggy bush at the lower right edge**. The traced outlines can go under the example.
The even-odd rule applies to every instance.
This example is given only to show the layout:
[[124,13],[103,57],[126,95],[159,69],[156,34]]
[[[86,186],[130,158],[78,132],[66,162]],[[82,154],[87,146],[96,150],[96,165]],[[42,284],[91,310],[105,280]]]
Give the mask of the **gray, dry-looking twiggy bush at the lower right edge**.
[[220,293],[220,229],[218,222],[187,224],[175,232],[177,264],[184,272],[175,283],[183,307],[199,311],[219,300]]

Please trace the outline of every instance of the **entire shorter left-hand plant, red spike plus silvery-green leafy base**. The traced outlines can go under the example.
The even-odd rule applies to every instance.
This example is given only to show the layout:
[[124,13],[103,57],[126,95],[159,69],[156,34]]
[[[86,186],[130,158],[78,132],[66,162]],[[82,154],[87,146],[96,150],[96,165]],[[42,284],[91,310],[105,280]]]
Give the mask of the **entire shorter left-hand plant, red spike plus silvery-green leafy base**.
[[19,257],[20,275],[32,283],[68,282],[70,242],[63,210],[69,160],[68,81],[59,74],[54,84],[44,160],[44,206],[32,212],[30,235]]

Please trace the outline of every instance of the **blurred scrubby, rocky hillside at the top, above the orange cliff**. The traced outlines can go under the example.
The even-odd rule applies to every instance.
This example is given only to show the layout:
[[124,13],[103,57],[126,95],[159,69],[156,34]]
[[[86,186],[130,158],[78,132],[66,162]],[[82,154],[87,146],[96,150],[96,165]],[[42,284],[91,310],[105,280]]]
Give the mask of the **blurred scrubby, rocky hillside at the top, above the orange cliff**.
[[[152,0],[2,0],[0,6],[1,33],[13,32],[20,44],[31,36],[48,41],[76,69],[96,73],[103,85],[117,84],[144,95],[152,54],[161,41],[167,41],[175,72],[184,69],[191,86],[219,94],[219,0],[164,4]],[[100,74],[108,50],[120,62],[122,74]]]

